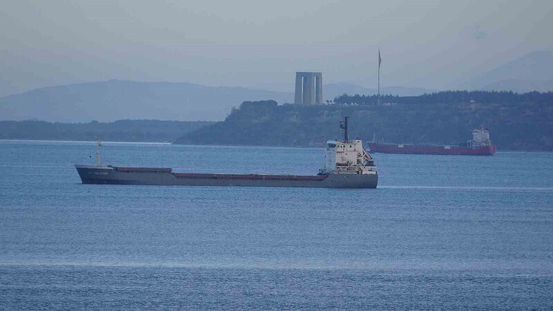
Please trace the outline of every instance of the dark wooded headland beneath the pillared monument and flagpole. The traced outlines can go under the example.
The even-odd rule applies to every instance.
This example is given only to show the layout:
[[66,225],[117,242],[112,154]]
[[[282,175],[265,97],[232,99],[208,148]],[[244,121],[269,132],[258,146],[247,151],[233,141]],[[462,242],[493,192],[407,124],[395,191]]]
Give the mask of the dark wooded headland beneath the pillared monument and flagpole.
[[351,136],[364,140],[376,133],[386,142],[458,144],[485,126],[500,150],[553,151],[551,97],[529,93],[507,102],[478,97],[432,102],[423,95],[419,101],[410,97],[410,102],[390,101],[388,106],[243,102],[224,122],[187,133],[176,143],[322,147],[326,140],[341,137],[338,122],[348,115]]

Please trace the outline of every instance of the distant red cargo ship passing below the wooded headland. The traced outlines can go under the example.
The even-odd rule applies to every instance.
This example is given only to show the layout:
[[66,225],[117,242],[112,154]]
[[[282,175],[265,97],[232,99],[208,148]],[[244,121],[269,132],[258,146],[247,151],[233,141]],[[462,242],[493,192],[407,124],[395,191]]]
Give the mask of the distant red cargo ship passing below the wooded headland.
[[472,140],[458,145],[438,144],[392,144],[377,141],[368,143],[368,150],[373,153],[406,153],[406,154],[443,154],[458,156],[493,156],[496,147],[491,144],[487,129],[475,129],[472,131]]

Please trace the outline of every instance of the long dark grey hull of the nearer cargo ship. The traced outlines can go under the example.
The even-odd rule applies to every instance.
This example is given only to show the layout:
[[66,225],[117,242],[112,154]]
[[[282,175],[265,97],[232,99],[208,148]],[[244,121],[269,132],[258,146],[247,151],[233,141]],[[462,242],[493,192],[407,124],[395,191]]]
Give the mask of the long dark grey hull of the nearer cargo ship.
[[378,173],[317,176],[174,173],[169,168],[75,165],[83,184],[238,187],[376,188]]

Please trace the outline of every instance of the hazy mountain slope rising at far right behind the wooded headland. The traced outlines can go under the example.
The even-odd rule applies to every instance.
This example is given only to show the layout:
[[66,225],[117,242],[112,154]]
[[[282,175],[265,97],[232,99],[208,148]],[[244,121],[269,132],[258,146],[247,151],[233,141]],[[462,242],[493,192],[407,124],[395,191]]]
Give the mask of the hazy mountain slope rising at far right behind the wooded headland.
[[460,89],[553,91],[553,51],[534,51],[460,84]]

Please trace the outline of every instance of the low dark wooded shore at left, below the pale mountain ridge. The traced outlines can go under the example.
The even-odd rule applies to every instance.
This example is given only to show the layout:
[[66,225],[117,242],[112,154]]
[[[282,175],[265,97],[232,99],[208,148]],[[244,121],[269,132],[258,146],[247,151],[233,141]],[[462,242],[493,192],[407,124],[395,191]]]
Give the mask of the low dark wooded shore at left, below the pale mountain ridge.
[[96,140],[124,142],[174,142],[182,133],[214,122],[118,120],[115,122],[50,123],[0,121],[0,139]]

